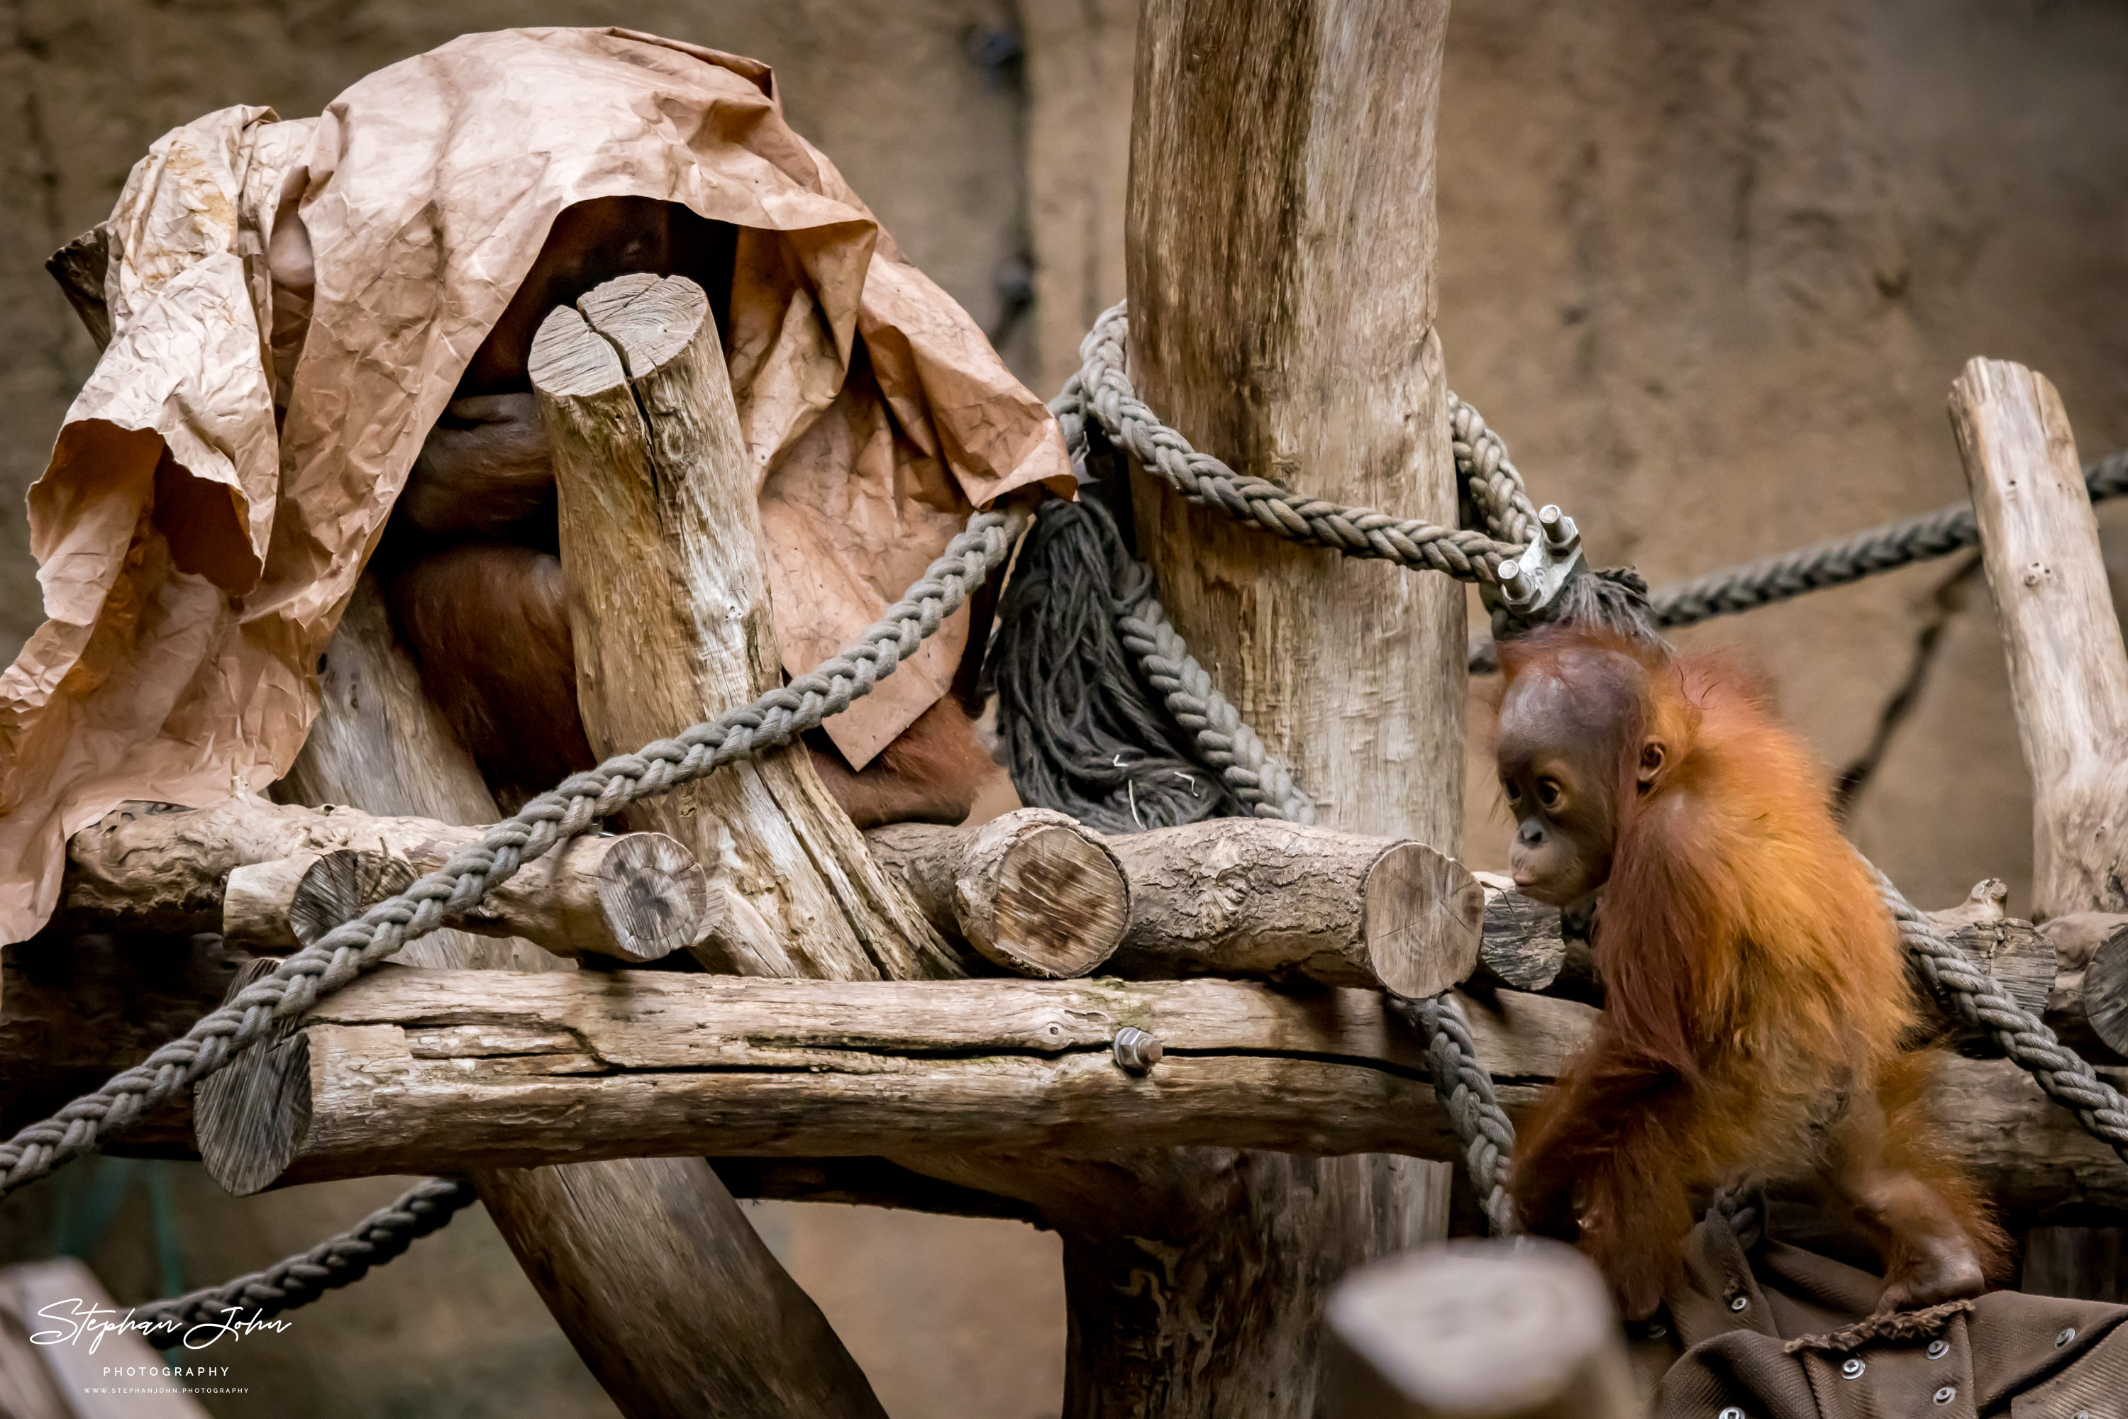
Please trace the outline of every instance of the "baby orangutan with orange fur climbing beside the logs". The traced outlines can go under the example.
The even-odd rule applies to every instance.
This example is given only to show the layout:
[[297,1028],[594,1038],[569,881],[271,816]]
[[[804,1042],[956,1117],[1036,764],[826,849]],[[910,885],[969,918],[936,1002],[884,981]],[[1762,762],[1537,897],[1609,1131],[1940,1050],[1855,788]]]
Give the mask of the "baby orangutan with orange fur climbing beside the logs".
[[1602,891],[1607,1006],[1522,1130],[1532,1232],[1579,1236],[1628,1317],[1679,1268],[1694,1198],[1817,1174],[1883,1257],[1879,1311],[1977,1293],[2005,1251],[1926,1111],[1934,1051],[1868,868],[1802,745],[1734,666],[1605,632],[1500,645],[1515,887]]

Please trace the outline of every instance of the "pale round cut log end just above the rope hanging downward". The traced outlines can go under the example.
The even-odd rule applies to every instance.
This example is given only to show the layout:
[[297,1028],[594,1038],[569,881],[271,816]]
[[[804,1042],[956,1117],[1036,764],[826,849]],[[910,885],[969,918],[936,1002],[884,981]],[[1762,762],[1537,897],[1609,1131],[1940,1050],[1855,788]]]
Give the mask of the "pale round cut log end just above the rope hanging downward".
[[1485,889],[1424,842],[1398,842],[1366,874],[1362,932],[1375,976],[1407,998],[1439,996],[1477,968]]

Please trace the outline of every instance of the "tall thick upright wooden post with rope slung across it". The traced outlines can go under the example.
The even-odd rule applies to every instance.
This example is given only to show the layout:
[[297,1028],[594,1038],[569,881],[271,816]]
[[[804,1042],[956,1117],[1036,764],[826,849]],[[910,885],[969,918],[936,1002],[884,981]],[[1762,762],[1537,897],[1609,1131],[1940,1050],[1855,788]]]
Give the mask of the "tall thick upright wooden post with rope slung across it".
[[[1200,449],[1453,523],[1434,338],[1447,0],[1149,0],[1126,268],[1138,394]],[[1136,479],[1138,549],[1324,823],[1456,851],[1464,589],[1298,549]],[[1190,1151],[1060,1225],[1064,1413],[1304,1419],[1321,1308],[1439,1236],[1407,1164]],[[1117,1179],[1124,1174],[1117,1170]]]

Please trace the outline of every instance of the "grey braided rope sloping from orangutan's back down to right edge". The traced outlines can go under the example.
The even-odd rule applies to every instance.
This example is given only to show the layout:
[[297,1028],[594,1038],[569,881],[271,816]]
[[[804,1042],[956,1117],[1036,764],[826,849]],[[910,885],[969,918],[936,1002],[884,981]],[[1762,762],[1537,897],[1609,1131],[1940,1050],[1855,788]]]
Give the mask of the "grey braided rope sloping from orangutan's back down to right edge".
[[2054,1102],[2075,1113],[2088,1134],[2128,1162],[2128,1100],[2090,1062],[2062,1045],[2043,1019],[2011,1000],[1985,966],[1945,940],[1936,923],[1883,872],[1877,872],[1877,894],[1936,998],[1966,1023],[1988,1030],[2002,1053],[2026,1068]]

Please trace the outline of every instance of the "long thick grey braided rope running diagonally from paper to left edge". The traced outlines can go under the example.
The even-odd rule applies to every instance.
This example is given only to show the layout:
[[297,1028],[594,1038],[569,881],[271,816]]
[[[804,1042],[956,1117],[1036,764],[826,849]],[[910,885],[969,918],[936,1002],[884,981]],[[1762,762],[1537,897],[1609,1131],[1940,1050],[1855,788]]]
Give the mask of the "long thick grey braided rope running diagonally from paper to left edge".
[[460,851],[440,870],[406,891],[336,925],[317,942],[289,955],[219,1011],[113,1076],[102,1089],[0,1142],[0,1198],[49,1174],[60,1164],[94,1151],[106,1134],[134,1123],[179,1089],[226,1068],[257,1042],[268,1025],[311,1008],[364,970],[394,955],[409,940],[434,932],[472,908],[492,887],[523,864],[551,851],[598,819],[636,798],[664,794],[724,764],[783,747],[872,691],[894,674],[902,655],[960,608],[968,591],[1011,555],[1026,513],[977,513],[924,579],[887,606],[887,613],[813,672],[768,691],[753,704],[726,711],[675,738],[606,759],[587,774],[528,802],[515,817],[489,828],[481,842]]

